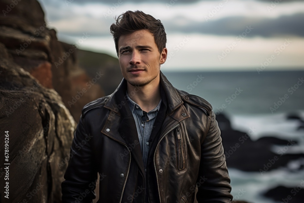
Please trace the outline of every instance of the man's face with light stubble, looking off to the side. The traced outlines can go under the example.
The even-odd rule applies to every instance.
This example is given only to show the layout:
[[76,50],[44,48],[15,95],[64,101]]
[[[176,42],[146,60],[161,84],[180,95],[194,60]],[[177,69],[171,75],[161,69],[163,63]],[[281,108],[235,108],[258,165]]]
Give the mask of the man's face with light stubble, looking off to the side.
[[159,80],[167,48],[159,53],[154,36],[148,30],[122,35],[118,40],[118,59],[123,77],[133,86],[145,86]]

